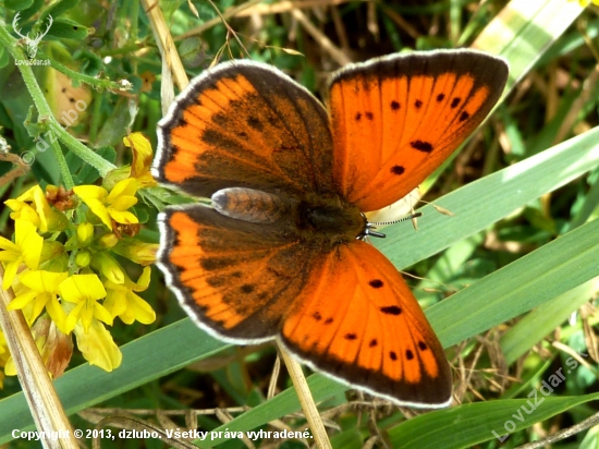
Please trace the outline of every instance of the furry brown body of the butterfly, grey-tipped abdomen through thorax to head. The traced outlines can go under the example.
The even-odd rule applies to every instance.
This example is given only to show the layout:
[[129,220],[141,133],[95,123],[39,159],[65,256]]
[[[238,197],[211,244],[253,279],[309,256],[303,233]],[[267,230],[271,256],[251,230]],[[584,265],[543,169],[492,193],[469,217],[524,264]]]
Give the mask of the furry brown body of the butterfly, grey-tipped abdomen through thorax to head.
[[359,209],[334,194],[291,196],[230,187],[216,192],[212,205],[228,217],[277,225],[301,239],[328,241],[332,245],[351,242],[366,233],[366,219]]

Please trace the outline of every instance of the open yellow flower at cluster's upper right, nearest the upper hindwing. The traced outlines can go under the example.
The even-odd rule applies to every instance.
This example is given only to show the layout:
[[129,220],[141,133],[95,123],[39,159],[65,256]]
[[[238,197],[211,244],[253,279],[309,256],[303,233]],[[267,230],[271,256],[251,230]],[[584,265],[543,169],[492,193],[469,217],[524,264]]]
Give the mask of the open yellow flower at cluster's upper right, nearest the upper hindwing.
[[73,191],[102,220],[108,229],[112,229],[112,220],[124,225],[139,222],[137,217],[127,211],[130,207],[137,203],[135,197],[137,186],[137,180],[130,178],[114,184],[110,194],[106,189],[97,185],[80,185],[74,187]]

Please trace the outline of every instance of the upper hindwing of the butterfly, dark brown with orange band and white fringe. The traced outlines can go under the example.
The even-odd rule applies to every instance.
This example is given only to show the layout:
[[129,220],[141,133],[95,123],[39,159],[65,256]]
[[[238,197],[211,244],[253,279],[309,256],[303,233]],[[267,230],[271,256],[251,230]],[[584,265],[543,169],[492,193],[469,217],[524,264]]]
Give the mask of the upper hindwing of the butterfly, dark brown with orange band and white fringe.
[[195,78],[159,123],[154,174],[209,197],[224,187],[331,192],[328,114],[267,64],[223,63]]

